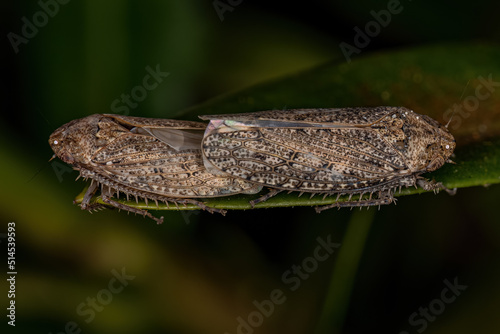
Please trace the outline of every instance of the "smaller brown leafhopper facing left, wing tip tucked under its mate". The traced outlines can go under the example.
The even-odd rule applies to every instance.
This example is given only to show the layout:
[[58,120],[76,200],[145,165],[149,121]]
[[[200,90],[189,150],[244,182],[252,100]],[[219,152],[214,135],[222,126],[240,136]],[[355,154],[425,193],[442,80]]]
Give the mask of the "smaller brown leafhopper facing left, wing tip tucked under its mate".
[[[104,203],[118,209],[148,216],[112,199],[120,193],[178,204],[192,203],[209,212],[224,210],[207,207],[194,198],[254,194],[261,186],[230,175],[214,175],[205,169],[201,139],[206,124],[201,122],[95,114],[73,120],[57,129],[49,144],[62,161],[91,179],[80,204],[83,210],[99,208],[90,203],[101,187]],[[79,176],[79,177],[80,177]]]

